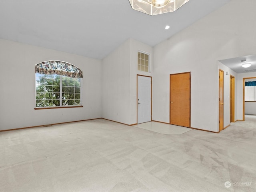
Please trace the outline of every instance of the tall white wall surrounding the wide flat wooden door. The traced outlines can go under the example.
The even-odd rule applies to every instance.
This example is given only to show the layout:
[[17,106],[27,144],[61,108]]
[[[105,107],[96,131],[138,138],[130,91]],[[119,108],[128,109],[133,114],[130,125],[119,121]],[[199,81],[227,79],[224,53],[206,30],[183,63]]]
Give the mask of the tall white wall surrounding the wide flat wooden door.
[[218,132],[217,61],[255,54],[255,8],[230,1],[154,47],[154,120],[169,122],[169,75],[191,71],[191,127]]

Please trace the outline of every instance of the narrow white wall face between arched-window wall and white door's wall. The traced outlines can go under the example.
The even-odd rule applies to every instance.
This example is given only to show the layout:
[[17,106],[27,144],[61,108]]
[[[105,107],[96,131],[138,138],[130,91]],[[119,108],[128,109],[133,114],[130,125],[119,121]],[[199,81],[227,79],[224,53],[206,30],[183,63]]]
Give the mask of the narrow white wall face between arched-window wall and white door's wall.
[[130,40],[102,60],[102,117],[129,124]]

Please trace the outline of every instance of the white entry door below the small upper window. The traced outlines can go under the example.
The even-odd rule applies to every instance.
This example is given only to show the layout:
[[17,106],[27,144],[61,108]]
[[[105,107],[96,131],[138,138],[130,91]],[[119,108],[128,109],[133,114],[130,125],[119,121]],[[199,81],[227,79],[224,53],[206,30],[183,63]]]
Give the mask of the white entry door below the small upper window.
[[151,77],[137,76],[137,123],[151,121]]

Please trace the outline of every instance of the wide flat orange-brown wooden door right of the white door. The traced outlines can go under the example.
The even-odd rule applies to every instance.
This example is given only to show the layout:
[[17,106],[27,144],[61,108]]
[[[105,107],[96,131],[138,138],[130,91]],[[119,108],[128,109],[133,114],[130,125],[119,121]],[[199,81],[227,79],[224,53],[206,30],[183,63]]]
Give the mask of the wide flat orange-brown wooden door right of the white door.
[[190,75],[170,74],[170,124],[190,127]]

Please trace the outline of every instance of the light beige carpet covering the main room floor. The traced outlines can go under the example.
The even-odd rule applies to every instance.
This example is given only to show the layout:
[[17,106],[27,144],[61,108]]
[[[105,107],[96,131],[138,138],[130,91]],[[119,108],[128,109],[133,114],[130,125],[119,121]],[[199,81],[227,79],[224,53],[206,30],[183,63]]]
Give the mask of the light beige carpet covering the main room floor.
[[219,134],[103,119],[0,132],[0,191],[255,192],[256,123],[242,123]]

